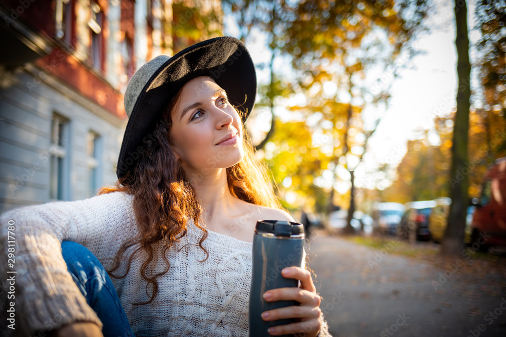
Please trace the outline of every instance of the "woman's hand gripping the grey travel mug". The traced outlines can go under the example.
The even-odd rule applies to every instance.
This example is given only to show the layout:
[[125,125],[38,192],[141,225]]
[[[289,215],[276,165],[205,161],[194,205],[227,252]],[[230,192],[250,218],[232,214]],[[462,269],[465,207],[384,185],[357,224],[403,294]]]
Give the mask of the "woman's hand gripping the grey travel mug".
[[271,327],[269,333],[280,335],[304,332],[305,336],[316,336],[320,330],[322,318],[320,296],[316,294],[311,273],[301,267],[287,267],[281,271],[281,274],[286,278],[300,280],[301,287],[273,289],[264,293],[264,299],[268,302],[297,301],[301,305],[265,311],[262,313],[262,319],[274,321],[283,318],[299,318],[300,322]]

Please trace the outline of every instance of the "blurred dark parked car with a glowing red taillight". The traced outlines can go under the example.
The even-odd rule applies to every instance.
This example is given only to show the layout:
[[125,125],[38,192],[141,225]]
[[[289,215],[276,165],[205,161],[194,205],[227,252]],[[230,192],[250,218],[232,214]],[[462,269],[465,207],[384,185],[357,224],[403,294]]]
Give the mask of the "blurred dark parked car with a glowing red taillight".
[[404,204],[406,211],[397,229],[397,235],[405,239],[411,239],[413,236],[418,241],[430,240],[429,216],[435,206],[434,200],[413,201]]

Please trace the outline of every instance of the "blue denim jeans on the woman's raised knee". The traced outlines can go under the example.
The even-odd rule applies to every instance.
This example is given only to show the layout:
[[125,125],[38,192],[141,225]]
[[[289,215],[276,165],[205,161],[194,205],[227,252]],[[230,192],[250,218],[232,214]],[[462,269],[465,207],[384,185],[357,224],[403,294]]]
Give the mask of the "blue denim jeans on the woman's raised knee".
[[72,241],[62,242],[62,253],[74,282],[104,325],[104,337],[135,337],[116,289],[97,257]]

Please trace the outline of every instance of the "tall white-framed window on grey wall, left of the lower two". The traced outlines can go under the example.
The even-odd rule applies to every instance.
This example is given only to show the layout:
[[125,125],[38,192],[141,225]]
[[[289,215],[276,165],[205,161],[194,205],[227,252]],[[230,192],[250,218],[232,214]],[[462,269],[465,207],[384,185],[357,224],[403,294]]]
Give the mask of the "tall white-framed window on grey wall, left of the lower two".
[[68,200],[67,187],[69,176],[68,136],[69,121],[54,114],[51,121],[51,155],[50,190],[52,200]]

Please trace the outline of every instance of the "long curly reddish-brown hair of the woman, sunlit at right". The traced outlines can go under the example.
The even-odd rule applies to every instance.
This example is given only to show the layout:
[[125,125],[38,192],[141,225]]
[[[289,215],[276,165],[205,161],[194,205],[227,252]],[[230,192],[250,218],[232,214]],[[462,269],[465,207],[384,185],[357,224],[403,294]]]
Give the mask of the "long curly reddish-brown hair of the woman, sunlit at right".
[[[198,246],[208,257],[208,252],[202,246],[207,237],[207,230],[199,223],[202,208],[190,182],[185,177],[169,139],[172,111],[176,107],[181,91],[182,89],[168,104],[162,114],[161,122],[156,125],[151,134],[153,137],[145,141],[144,151],[139,154],[137,166],[119,179],[115,186],[102,187],[98,192],[98,194],[107,194],[123,191],[134,196],[133,208],[139,235],[121,246],[108,273],[114,278],[125,277],[130,271],[133,258],[142,252],[147,253],[147,259],[142,264],[140,273],[147,282],[146,294],[150,300],[135,303],[135,305],[148,304],[155,299],[158,294],[157,278],[165,274],[170,267],[165,253],[186,235],[188,221],[193,221],[197,228],[202,230]],[[251,204],[283,209],[267,174],[267,166],[255,158],[255,151],[247,132],[243,132],[243,135],[244,157],[241,162],[226,169],[231,194]],[[164,245],[161,256],[165,268],[160,273],[150,274],[148,273],[149,266],[157,253],[154,246],[162,240]],[[128,258],[128,267],[124,274],[114,274],[114,271],[120,267],[125,252],[133,246],[136,248]],[[148,292],[149,287],[151,287],[151,294]]]

